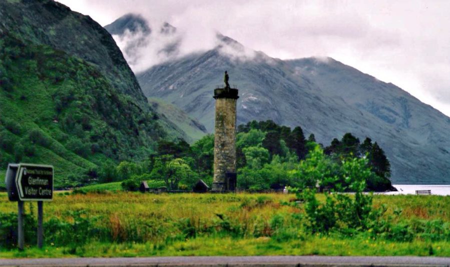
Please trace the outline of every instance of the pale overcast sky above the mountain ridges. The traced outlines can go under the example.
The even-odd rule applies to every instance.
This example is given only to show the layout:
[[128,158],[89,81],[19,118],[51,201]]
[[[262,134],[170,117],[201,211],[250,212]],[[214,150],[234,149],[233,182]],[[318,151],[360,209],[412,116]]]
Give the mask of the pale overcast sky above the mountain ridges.
[[219,31],[272,57],[330,56],[450,116],[448,0],[59,1],[101,25],[129,12],[167,21],[185,33],[185,50],[211,48]]

